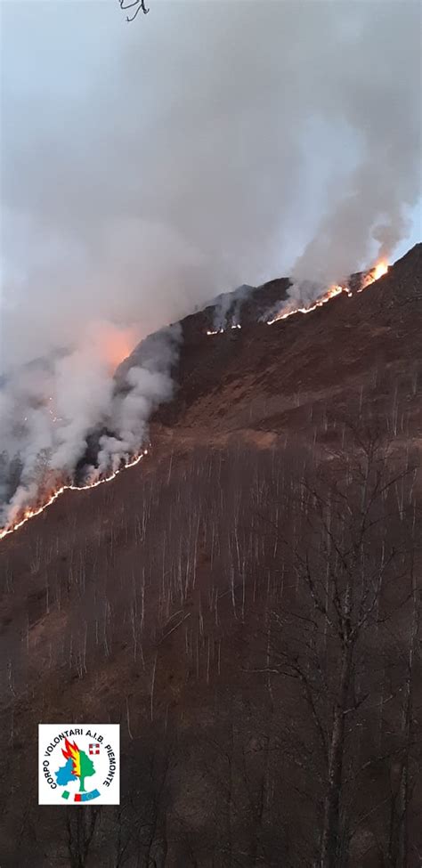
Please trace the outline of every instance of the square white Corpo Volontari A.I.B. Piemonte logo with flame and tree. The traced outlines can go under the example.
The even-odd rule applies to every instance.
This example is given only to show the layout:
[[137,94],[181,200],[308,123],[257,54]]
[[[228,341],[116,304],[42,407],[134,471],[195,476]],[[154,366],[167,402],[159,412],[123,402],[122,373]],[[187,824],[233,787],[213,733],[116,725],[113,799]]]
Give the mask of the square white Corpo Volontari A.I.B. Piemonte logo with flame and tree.
[[118,805],[119,724],[39,724],[38,803]]

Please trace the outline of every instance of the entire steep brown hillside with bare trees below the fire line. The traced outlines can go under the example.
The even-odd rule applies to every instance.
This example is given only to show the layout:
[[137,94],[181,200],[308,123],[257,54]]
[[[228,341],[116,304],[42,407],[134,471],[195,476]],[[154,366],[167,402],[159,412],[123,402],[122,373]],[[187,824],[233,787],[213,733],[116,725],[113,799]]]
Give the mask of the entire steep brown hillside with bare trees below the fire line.
[[[149,455],[1,542],[2,868],[420,864],[421,252],[187,317]],[[37,807],[71,720],[121,724],[119,808]]]

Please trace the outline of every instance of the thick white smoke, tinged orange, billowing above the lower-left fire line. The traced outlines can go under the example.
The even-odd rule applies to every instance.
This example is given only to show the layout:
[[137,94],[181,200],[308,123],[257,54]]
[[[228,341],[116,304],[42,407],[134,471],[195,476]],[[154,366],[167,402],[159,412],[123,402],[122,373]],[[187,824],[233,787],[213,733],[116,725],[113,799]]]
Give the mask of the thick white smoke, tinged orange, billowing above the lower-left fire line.
[[[43,491],[51,493],[72,482],[88,435],[95,440],[95,464],[85,467],[84,481],[117,470],[122,460],[140,450],[151,412],[173,395],[171,370],[181,329],[175,325],[147,338],[131,363],[120,366],[113,377],[113,352],[122,337],[117,329],[101,324],[85,334],[80,346],[48,361],[20,366],[4,382],[0,474],[5,505],[0,526],[42,499]],[[101,428],[110,434],[101,434]]]

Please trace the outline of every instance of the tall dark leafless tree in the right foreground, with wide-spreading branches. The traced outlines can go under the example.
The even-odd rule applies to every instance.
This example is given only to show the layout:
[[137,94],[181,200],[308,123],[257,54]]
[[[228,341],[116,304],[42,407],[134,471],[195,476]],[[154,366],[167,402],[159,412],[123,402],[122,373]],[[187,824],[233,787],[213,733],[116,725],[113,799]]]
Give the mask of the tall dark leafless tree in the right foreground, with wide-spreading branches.
[[[402,703],[402,730],[405,743],[410,743],[411,673],[418,623],[411,567],[415,548],[412,478],[409,462],[402,466],[377,434],[359,436],[353,453],[333,458],[329,474],[324,466],[323,474],[300,480],[292,520],[300,540],[292,548],[292,537],[283,539],[295,577],[294,590],[272,611],[272,653],[270,659],[267,653],[261,671],[296,681],[313,722],[320,755],[320,766],[314,765],[315,794],[320,789],[322,802],[319,856],[315,857],[319,868],[345,865],[350,842],[356,840],[345,793],[345,761],[351,779],[361,755],[366,716],[380,686],[369,665],[377,659],[374,637],[392,620],[400,622],[400,612],[411,598],[408,677]],[[385,670],[380,677],[385,678]],[[299,711],[297,715],[300,720]],[[312,740],[312,750],[313,745]],[[312,763],[315,761],[314,754]],[[405,864],[404,817],[409,803],[404,749],[399,778],[391,862],[397,868]]]

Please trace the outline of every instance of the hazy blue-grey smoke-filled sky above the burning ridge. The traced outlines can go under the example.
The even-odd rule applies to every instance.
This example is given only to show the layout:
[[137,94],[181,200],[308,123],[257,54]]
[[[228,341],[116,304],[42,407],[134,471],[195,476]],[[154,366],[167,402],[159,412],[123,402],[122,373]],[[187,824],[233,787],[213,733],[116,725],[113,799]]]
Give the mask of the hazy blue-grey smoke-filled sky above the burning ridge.
[[[16,0],[1,14],[2,448],[18,444],[28,490],[42,450],[71,473],[98,421],[116,416],[104,460],[144,436],[113,393],[122,336],[244,280],[325,285],[393,251],[419,196],[421,9],[156,0],[129,26],[118,3]],[[134,404],[168,393],[158,373],[130,375]]]

